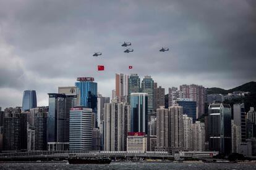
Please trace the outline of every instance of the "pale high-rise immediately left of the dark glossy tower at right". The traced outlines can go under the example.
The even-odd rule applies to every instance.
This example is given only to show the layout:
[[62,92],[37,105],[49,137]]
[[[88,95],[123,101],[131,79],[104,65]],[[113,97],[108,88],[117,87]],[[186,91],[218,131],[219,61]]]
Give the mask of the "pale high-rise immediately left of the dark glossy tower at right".
[[193,150],[198,152],[205,151],[205,124],[195,121],[193,129]]

